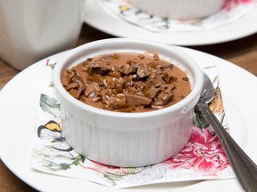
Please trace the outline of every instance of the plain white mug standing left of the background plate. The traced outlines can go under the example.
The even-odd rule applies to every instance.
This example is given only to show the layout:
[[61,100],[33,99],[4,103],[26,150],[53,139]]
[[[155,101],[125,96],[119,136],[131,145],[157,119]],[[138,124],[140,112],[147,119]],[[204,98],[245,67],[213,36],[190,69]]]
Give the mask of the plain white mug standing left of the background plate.
[[75,46],[85,0],[0,0],[0,58],[24,69]]

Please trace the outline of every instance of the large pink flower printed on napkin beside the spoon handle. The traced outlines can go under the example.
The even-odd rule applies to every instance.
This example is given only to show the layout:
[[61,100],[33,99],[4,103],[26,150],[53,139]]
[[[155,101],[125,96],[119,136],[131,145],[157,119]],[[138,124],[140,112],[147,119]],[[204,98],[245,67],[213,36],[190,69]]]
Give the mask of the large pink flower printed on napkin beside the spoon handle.
[[196,172],[215,174],[227,168],[229,163],[217,135],[194,126],[187,146],[165,164],[170,168],[192,168]]

